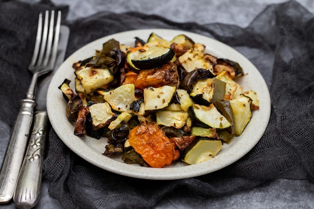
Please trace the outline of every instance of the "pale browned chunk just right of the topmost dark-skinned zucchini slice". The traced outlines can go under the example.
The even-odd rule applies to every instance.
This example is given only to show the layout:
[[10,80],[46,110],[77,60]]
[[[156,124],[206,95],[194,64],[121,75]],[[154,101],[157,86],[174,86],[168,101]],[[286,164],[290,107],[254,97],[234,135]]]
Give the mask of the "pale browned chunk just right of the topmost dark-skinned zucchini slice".
[[188,71],[194,71],[202,68],[213,72],[213,67],[210,63],[206,62],[203,57],[196,53],[192,48],[185,54],[179,57],[182,67]]

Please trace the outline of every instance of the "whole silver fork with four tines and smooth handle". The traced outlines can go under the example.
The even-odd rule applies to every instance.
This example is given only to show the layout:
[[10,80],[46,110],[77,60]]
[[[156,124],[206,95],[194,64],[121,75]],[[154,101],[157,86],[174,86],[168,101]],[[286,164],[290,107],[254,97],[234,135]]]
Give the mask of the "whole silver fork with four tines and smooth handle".
[[39,76],[49,73],[55,66],[60,34],[61,12],[58,11],[56,25],[55,12],[39,14],[38,29],[32,61],[28,69],[33,78],[26,93],[26,99],[20,101],[20,112],[11,133],[0,173],[0,203],[9,202],[14,194],[19,171],[22,166],[34,114],[35,89]]

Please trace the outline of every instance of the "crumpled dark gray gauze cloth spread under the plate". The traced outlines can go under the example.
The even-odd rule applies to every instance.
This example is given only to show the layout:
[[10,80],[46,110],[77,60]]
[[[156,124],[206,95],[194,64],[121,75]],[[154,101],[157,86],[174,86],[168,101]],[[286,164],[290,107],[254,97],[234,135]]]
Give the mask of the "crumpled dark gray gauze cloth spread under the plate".
[[[51,8],[55,6],[49,1],[37,5],[0,2],[2,127],[12,127],[18,102],[30,83],[26,66],[35,44],[37,14]],[[59,8],[66,14],[67,7]],[[271,95],[270,121],[257,145],[232,165],[195,178],[143,180],[110,173],[74,154],[52,129],[44,177],[50,181],[50,195],[64,208],[150,208],[166,195],[191,197],[198,208],[197,199],[253,188],[276,178],[314,182],[314,19],[296,2],[267,7],[247,28],[179,24],[159,16],[111,12],[63,23],[71,31],[67,57],[95,39],[133,29],[180,29],[217,39],[259,69]]]

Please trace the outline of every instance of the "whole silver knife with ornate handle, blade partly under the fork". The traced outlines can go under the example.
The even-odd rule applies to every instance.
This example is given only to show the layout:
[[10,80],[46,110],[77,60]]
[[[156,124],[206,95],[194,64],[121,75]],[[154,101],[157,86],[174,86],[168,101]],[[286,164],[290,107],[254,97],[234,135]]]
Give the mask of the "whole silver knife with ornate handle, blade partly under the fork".
[[39,81],[38,84],[38,92],[36,95],[37,106],[34,116],[33,130],[29,138],[29,144],[13,196],[13,200],[18,208],[32,208],[39,200],[45,140],[49,123],[46,111],[47,90],[54,72],[64,61],[69,34],[69,28],[62,25],[60,28],[58,55],[55,69],[42,81]]

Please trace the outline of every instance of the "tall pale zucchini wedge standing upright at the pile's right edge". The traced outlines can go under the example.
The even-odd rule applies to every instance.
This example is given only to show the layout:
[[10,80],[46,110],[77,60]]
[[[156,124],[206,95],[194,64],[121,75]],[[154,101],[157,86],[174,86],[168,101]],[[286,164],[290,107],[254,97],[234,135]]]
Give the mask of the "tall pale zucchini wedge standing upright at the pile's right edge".
[[244,128],[251,120],[251,103],[252,99],[241,94],[237,98],[230,100],[234,115],[235,135],[240,136]]

